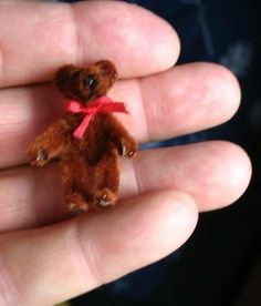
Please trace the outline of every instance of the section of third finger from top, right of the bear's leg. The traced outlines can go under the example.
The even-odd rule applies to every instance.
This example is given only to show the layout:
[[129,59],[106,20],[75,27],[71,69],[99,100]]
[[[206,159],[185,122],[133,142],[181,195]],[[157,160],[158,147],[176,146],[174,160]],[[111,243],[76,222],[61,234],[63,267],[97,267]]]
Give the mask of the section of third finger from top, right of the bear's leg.
[[251,178],[251,162],[238,145],[222,141],[149,150],[122,172],[122,197],[180,190],[200,212],[237,201]]

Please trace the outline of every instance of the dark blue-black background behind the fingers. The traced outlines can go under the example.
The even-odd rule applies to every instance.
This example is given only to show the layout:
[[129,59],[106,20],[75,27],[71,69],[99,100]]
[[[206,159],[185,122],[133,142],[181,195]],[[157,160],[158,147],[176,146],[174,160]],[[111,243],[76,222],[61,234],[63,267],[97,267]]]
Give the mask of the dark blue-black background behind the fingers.
[[239,79],[242,90],[241,108],[229,123],[157,145],[229,140],[243,146],[251,156],[253,177],[247,193],[234,205],[201,214],[194,235],[179,251],[72,303],[91,306],[261,305],[260,1],[127,2],[143,6],[174,26],[181,41],[178,63],[210,61],[227,65]]

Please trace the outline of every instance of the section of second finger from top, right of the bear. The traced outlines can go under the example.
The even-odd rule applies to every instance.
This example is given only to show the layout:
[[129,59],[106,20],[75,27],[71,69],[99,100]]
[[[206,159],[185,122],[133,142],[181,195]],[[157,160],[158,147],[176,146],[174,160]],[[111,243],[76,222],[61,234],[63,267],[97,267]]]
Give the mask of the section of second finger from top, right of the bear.
[[121,115],[121,119],[126,126],[132,126],[140,142],[218,125],[229,120],[240,103],[237,79],[218,64],[178,65],[142,79],[136,91],[135,84],[127,85],[126,82],[116,84],[112,94],[116,100],[129,101],[132,115]]

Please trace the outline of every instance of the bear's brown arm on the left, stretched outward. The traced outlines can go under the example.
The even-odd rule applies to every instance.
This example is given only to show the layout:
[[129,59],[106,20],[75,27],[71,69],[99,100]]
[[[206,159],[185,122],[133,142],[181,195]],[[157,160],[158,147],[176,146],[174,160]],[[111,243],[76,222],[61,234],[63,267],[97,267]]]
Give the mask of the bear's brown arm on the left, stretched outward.
[[31,164],[42,166],[59,157],[66,143],[67,129],[63,119],[53,123],[28,149]]

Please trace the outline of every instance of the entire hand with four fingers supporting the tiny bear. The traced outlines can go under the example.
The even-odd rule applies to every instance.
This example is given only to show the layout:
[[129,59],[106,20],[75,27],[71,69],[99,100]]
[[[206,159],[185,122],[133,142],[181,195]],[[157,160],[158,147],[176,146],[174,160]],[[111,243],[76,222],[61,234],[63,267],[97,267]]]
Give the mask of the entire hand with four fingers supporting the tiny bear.
[[251,165],[228,142],[142,152],[122,161],[117,208],[59,222],[56,166],[25,165],[25,147],[63,109],[49,83],[59,67],[115,62],[122,80],[109,95],[127,102],[130,115],[117,118],[139,142],[227,121],[240,91],[219,65],[173,68],[177,34],[137,6],[13,3],[0,2],[0,305],[53,305],[174,252],[199,211],[244,192]]

